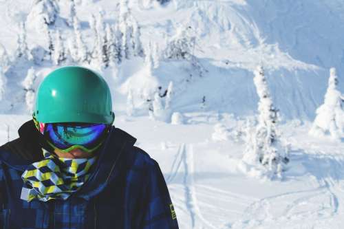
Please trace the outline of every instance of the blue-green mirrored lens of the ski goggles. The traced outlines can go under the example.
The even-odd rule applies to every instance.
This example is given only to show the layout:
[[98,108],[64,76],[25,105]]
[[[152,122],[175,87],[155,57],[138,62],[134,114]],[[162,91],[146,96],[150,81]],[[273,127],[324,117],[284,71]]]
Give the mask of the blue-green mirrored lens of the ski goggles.
[[74,145],[92,149],[100,144],[106,132],[106,124],[47,123],[43,134],[58,149],[68,149]]

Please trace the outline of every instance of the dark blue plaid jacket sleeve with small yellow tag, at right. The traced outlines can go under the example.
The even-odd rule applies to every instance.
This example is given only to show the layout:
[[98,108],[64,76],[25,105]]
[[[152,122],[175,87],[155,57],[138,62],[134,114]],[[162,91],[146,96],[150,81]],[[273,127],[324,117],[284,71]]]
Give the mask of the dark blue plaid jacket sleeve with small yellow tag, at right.
[[149,166],[142,229],[178,229],[175,210],[157,162]]

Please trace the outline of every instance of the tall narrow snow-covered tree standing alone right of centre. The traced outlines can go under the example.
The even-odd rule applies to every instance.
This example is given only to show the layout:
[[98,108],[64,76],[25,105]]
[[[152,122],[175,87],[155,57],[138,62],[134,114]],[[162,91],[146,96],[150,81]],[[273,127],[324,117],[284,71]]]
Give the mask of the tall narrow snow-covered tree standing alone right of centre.
[[288,160],[288,151],[279,140],[277,124],[278,110],[274,107],[263,67],[257,67],[254,83],[259,96],[258,124],[251,138],[246,142],[244,162],[261,164],[266,169],[266,175],[281,177],[283,164]]

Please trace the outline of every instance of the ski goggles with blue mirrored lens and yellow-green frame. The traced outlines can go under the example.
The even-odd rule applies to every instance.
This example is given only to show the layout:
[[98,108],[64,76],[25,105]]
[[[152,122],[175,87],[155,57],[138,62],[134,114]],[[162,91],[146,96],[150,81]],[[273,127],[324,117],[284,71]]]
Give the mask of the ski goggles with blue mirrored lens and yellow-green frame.
[[82,149],[91,153],[105,140],[109,133],[108,124],[90,124],[78,122],[36,123],[39,131],[54,149],[69,152]]

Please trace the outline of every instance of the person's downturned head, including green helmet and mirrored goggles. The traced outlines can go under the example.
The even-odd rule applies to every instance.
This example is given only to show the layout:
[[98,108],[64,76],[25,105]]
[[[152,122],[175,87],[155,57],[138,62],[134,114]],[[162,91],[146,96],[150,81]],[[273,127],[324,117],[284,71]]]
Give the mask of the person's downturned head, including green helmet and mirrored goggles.
[[33,119],[58,157],[91,157],[114,122],[105,80],[85,67],[48,74],[36,94]]

